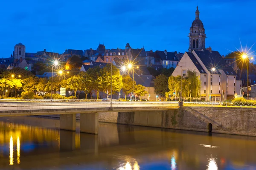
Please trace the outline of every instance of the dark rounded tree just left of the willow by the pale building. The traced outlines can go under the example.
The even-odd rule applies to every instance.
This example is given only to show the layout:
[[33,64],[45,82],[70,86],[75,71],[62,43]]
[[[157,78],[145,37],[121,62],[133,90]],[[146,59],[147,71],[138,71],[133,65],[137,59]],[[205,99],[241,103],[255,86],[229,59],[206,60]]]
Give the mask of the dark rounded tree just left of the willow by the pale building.
[[169,91],[168,88],[168,77],[163,74],[160,74],[154,80],[154,93],[159,94],[162,97],[165,96],[165,93]]

